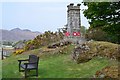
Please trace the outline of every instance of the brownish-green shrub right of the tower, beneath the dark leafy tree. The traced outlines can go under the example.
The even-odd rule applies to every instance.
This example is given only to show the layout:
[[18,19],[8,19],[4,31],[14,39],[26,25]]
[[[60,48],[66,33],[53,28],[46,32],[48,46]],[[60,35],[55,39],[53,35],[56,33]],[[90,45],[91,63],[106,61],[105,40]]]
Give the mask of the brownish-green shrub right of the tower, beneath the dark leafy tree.
[[112,43],[119,43],[118,35],[111,35],[103,31],[101,28],[89,28],[85,34],[87,40],[108,41]]

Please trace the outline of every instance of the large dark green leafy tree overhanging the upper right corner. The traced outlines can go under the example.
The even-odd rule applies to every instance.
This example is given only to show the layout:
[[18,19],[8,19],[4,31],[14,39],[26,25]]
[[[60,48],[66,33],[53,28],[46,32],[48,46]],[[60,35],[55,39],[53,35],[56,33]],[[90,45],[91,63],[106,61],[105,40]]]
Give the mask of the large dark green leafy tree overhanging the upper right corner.
[[107,34],[116,36],[120,43],[120,2],[84,2],[84,11],[92,28],[100,27]]

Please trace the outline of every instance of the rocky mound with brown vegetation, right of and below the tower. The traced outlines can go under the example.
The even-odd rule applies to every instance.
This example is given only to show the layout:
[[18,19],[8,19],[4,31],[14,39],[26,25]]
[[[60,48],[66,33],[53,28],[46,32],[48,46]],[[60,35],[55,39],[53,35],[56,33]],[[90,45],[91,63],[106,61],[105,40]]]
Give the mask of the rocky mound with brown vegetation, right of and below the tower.
[[76,46],[72,57],[77,63],[89,61],[95,56],[108,57],[116,60],[120,58],[119,47],[120,45],[114,43],[90,41]]

